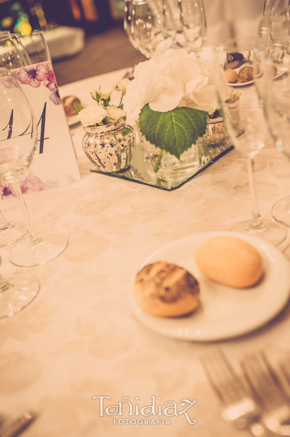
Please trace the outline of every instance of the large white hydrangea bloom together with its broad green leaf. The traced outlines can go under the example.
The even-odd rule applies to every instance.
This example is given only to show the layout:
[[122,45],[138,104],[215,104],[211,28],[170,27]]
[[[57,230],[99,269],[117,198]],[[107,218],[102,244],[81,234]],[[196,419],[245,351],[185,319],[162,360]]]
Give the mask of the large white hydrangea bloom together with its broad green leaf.
[[212,67],[183,49],[155,54],[135,67],[123,102],[146,140],[180,159],[217,108]]

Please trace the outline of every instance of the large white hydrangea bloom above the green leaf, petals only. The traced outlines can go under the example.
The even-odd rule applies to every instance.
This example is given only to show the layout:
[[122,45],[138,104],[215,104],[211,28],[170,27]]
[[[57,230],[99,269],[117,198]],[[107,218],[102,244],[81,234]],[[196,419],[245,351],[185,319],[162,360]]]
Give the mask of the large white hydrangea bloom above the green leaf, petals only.
[[134,119],[147,103],[157,112],[186,106],[212,113],[217,107],[212,67],[195,53],[169,49],[156,54],[135,67],[134,77],[123,99]]

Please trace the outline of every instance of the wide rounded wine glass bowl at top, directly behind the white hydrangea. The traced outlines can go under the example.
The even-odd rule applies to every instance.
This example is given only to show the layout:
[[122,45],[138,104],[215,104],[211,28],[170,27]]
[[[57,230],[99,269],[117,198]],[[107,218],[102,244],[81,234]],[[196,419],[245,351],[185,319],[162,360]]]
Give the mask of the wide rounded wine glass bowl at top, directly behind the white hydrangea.
[[147,58],[163,53],[174,44],[175,24],[167,0],[133,0],[131,7],[130,41]]

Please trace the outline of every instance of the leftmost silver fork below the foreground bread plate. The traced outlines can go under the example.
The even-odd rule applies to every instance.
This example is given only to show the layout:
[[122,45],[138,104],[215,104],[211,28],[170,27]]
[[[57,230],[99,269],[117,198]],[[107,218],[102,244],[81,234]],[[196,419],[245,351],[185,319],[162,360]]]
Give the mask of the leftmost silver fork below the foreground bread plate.
[[224,404],[223,420],[235,428],[248,429],[253,436],[268,436],[258,421],[259,405],[245,389],[223,351],[219,349],[200,360],[211,386]]

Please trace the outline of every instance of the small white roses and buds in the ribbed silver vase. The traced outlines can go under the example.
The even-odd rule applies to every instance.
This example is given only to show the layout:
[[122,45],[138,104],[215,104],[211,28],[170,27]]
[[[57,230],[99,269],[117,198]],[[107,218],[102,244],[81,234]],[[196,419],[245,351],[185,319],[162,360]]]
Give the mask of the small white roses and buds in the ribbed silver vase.
[[[92,99],[95,104],[83,108],[79,103],[74,104],[76,110],[76,118],[80,120],[83,126],[104,126],[111,122],[115,122],[120,118],[126,117],[126,112],[123,110],[123,97],[126,92],[128,79],[121,79],[117,82],[117,88],[105,88],[102,85],[98,88],[93,88],[91,91]],[[111,105],[111,95],[114,91],[121,93],[121,99],[118,106]]]

